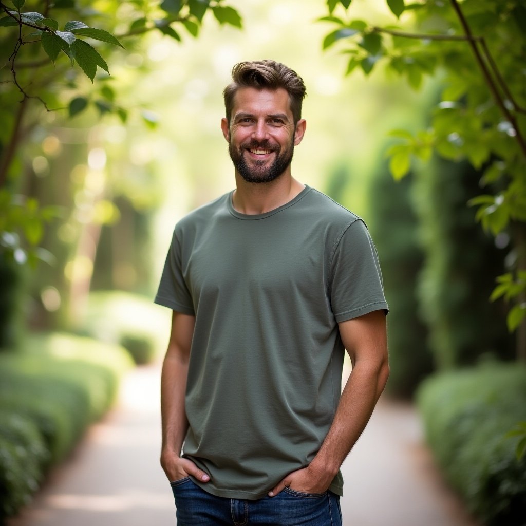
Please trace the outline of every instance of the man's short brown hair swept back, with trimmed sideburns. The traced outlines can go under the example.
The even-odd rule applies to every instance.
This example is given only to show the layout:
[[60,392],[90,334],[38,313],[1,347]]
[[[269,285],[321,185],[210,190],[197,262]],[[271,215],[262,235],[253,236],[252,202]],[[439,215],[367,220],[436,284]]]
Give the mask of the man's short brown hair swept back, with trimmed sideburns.
[[223,91],[228,122],[234,107],[234,97],[240,87],[286,89],[294,124],[301,118],[301,104],[307,95],[307,89],[303,79],[285,64],[274,60],[255,60],[240,62],[232,68],[232,82]]

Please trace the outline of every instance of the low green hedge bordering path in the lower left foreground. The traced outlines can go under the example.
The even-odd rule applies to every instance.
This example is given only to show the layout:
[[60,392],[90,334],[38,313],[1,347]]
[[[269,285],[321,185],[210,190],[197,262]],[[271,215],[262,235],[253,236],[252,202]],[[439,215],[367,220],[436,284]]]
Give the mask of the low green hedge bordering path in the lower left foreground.
[[0,354],[0,523],[108,410],[130,366],[121,347],[59,333]]

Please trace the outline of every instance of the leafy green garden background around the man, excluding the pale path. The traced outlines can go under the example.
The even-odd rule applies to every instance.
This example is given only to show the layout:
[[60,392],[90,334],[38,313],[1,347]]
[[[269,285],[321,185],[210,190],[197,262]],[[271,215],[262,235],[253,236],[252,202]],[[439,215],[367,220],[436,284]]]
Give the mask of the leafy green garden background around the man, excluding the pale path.
[[387,397],[477,520],[524,524],[524,31],[519,0],[0,2],[0,515],[158,366],[174,225],[234,186],[222,89],[272,58],[307,86],[292,173],[376,242]]

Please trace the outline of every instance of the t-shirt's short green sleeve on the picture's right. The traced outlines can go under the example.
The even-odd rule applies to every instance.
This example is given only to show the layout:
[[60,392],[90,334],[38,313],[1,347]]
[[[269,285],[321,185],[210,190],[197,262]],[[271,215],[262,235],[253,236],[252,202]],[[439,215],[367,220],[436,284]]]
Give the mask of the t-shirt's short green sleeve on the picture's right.
[[329,294],[337,322],[373,310],[388,311],[378,253],[361,219],[347,227],[335,249],[329,272]]

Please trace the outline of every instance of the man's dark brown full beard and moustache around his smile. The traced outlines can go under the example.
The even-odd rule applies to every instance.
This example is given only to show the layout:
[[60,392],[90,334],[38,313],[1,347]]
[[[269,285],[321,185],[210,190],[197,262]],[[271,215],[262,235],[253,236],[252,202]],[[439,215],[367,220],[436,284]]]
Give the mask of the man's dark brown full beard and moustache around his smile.
[[244,157],[247,148],[276,151],[276,148],[272,147],[268,140],[261,142],[252,140],[249,143],[242,144],[239,148],[236,148],[231,141],[229,142],[228,153],[230,154],[230,159],[232,159],[236,170],[247,183],[270,183],[270,181],[274,181],[284,173],[292,161],[292,155],[294,155],[294,141],[291,140],[289,147],[281,154],[278,154],[270,166],[266,167],[267,160],[252,159],[252,166],[249,167]]

